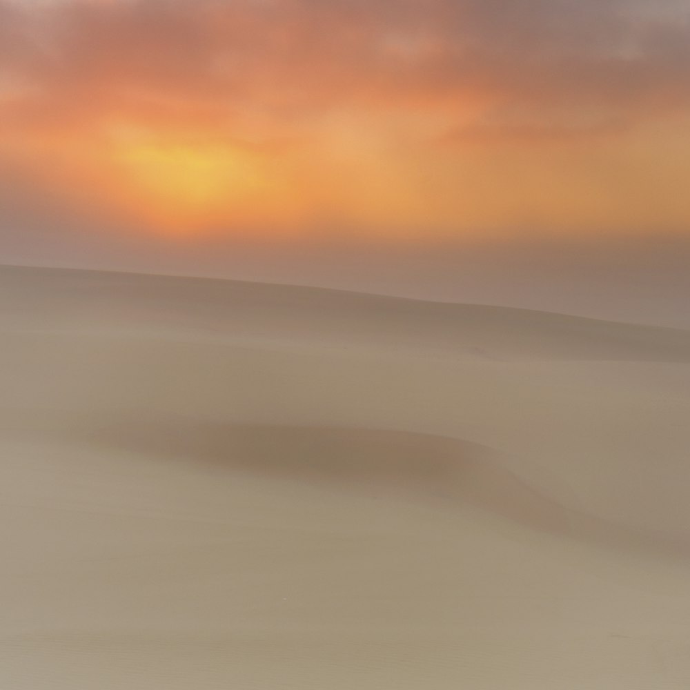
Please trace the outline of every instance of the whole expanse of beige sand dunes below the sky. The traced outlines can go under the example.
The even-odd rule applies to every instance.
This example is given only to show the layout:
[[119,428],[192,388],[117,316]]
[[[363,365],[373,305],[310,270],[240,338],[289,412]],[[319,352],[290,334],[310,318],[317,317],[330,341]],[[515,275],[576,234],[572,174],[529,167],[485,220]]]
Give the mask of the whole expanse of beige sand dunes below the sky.
[[0,286],[7,687],[688,687],[689,332]]

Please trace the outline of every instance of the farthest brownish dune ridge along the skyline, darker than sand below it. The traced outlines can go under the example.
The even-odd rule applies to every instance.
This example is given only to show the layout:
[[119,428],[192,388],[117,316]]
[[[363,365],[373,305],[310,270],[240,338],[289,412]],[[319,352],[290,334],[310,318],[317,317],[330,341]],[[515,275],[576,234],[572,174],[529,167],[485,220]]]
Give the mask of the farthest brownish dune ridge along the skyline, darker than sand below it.
[[469,357],[690,362],[690,331],[528,309],[66,268],[0,266],[0,280],[0,313],[17,327],[29,325],[32,311],[43,328],[200,331]]

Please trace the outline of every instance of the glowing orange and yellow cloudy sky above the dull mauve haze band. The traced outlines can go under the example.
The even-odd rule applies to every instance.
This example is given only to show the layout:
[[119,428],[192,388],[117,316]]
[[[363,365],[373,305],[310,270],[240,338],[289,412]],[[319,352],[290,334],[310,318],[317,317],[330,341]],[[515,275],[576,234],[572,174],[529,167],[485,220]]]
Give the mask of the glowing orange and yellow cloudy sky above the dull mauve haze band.
[[21,178],[55,213],[183,236],[687,233],[689,14],[0,0],[0,198]]

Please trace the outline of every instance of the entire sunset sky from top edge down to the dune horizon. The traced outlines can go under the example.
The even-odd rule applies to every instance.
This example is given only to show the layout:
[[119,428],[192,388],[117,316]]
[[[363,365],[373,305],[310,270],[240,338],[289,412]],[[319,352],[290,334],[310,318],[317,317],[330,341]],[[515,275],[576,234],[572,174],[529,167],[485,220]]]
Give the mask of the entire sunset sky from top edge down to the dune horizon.
[[690,327],[687,0],[0,0],[0,263]]

